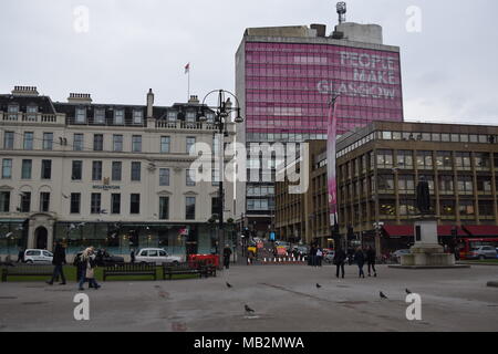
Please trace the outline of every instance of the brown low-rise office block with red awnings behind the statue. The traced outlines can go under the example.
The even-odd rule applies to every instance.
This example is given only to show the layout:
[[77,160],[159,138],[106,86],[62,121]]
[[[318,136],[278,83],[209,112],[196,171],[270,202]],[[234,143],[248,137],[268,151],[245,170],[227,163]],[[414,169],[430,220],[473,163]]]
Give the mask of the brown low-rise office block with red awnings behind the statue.
[[[277,230],[329,246],[326,143],[310,145],[310,188],[277,184]],[[498,126],[374,122],[338,140],[340,233],[378,252],[407,248],[418,217],[416,185],[432,195],[440,241],[498,235]]]

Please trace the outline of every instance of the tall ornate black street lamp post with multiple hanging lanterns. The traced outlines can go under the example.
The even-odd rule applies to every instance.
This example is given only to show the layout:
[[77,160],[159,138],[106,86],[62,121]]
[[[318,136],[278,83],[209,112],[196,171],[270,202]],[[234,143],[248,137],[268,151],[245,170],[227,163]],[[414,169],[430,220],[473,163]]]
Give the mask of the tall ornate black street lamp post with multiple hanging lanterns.
[[[218,93],[218,106],[209,107],[206,105],[206,98],[214,93]],[[226,95],[229,95],[236,100],[236,107],[232,107],[230,97],[225,100]],[[212,125],[218,128],[218,133],[220,135],[219,142],[219,195],[218,195],[218,218],[219,218],[219,230],[218,230],[218,256],[221,261],[224,254],[224,246],[225,246],[225,225],[224,225],[224,165],[225,165],[225,149],[224,149],[224,137],[228,135],[227,124],[230,123],[231,113],[236,113],[237,116],[235,118],[235,123],[243,123],[243,118],[240,116],[240,104],[239,100],[235,94],[226,90],[214,90],[209,92],[203,100],[203,104],[200,106],[200,117],[199,122],[207,122],[206,111],[215,112],[215,119]],[[219,262],[220,269],[222,268],[221,262]]]

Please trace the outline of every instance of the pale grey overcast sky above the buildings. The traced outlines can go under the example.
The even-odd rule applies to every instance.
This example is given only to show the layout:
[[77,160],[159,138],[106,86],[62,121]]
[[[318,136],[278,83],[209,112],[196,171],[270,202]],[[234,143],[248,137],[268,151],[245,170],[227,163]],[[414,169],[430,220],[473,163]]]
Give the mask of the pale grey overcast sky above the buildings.
[[[235,52],[249,27],[338,22],[329,0],[15,0],[0,1],[0,93],[38,86],[53,101],[70,92],[97,103],[156,104],[234,91]],[[401,46],[407,119],[498,124],[498,1],[350,0],[347,21],[378,23]],[[89,10],[75,31],[74,10]],[[406,9],[422,10],[408,32]],[[81,22],[76,22],[81,23]],[[80,27],[81,28],[81,27]]]

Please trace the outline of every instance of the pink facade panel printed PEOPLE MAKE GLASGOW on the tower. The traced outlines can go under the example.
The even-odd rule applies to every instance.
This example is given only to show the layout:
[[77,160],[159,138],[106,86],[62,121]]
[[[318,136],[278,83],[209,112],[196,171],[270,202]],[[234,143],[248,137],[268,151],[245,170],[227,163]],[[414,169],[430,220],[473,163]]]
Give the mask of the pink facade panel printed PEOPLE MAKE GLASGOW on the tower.
[[341,94],[338,134],[371,121],[403,121],[398,52],[247,42],[248,140],[324,138],[331,90]]

